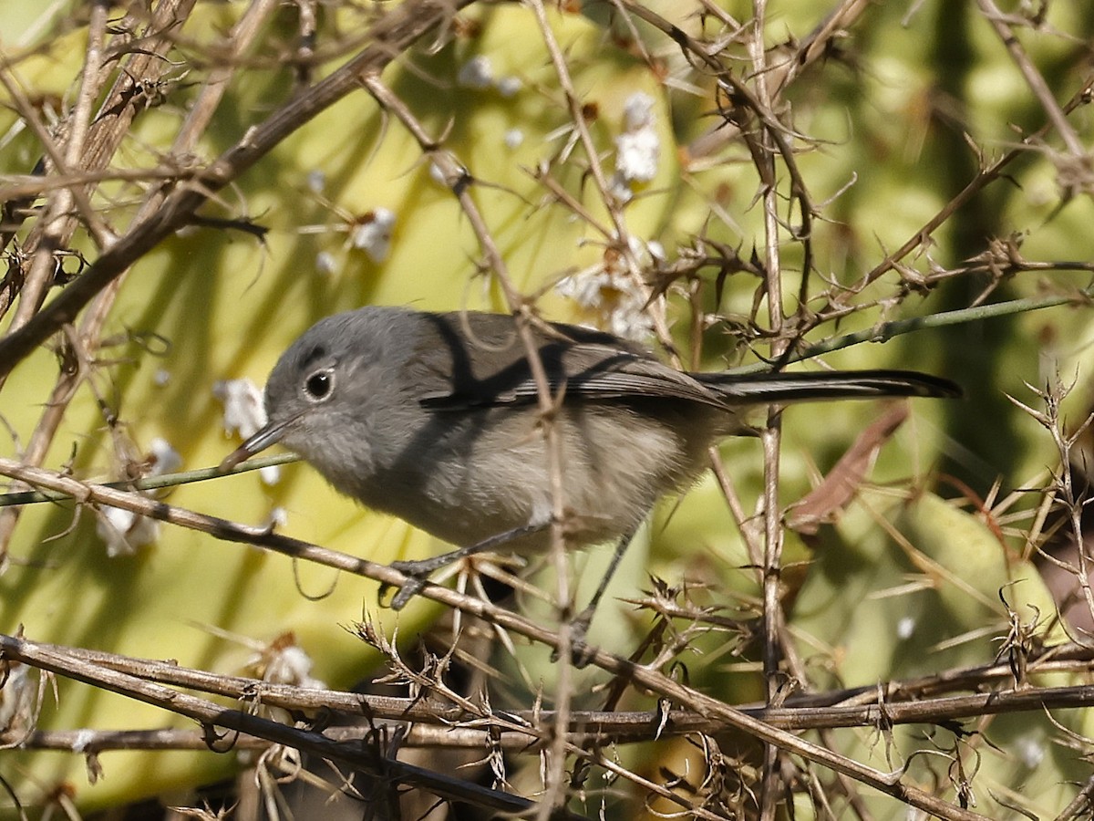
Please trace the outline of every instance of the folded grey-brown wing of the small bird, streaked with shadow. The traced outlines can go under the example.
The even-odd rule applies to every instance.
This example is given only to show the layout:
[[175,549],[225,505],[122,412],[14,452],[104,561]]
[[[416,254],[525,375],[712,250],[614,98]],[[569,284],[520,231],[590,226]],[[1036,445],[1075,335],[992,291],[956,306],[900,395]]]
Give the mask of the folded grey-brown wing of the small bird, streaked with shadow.
[[[437,410],[528,404],[537,389],[516,322],[507,314],[423,314],[407,362],[419,402]],[[552,393],[567,398],[675,398],[724,407],[718,394],[610,334],[550,324],[534,332]]]

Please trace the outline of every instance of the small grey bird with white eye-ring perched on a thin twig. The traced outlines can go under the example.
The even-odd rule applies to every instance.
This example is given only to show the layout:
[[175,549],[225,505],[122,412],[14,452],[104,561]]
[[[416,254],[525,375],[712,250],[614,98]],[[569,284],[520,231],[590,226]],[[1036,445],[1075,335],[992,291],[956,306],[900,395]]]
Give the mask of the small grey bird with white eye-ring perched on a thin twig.
[[[567,537],[618,540],[616,560],[656,499],[702,471],[713,442],[750,430],[746,408],[961,393],[907,371],[686,373],[610,334],[551,323],[534,335],[560,397]],[[543,417],[511,315],[369,307],[328,316],[278,360],[266,412],[268,424],[221,470],[281,442],[347,496],[462,547],[396,563],[414,580],[395,608],[456,558],[550,542]],[[587,623],[606,583],[579,621]]]

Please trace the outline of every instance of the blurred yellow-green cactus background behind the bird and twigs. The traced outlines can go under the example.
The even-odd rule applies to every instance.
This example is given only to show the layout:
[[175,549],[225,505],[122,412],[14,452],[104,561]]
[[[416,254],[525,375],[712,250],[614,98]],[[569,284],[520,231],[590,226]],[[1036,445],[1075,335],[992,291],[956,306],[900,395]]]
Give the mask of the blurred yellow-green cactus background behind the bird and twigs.
[[[732,70],[755,83],[743,58],[743,35],[730,36],[729,24],[699,15],[690,4],[648,5],[694,36],[721,33],[736,60],[730,60]],[[81,9],[57,3],[43,10],[31,0],[8,0],[0,8],[0,48],[9,61],[3,70],[47,123],[71,105],[79,88],[86,48]],[[198,3],[183,21],[165,96],[137,118],[113,167],[153,169],[164,161],[242,10],[241,3]],[[333,3],[317,11],[317,53],[329,59],[314,67],[315,77],[341,61],[374,10]],[[747,3],[728,2],[723,11],[737,21],[752,15]],[[651,270],[667,270],[686,258],[697,238],[708,248],[719,243],[743,258],[754,251],[763,257],[757,174],[740,138],[721,139],[728,126],[718,109],[725,97],[715,79],[689,66],[670,38],[640,22],[631,21],[631,27],[604,5],[590,4],[583,12],[551,10],[548,16],[609,174],[618,159],[618,138],[633,130],[628,106],[640,94],[651,101],[649,127],[660,147],[655,175],[621,183],[632,196],[621,209],[626,241],[639,258]],[[765,28],[771,61],[790,55],[823,16],[815,3],[772,3]],[[531,11],[473,5],[457,21],[450,36],[429,37],[401,57],[384,81],[433,135],[444,136],[444,144],[480,183],[473,195],[515,286],[540,294],[537,305],[550,319],[616,327],[613,323],[633,307],[633,282],[618,276],[608,247],[612,238],[597,229],[609,224],[608,215],[587,172],[587,158],[575,144],[573,123]],[[284,59],[296,48],[299,24],[292,5],[278,8],[268,19],[202,136],[197,162],[216,158],[289,96],[303,92]],[[1081,3],[1056,3],[1039,30],[1023,32],[1033,63],[1058,101],[1084,82],[1092,28],[1094,15]],[[480,61],[473,63],[476,58]],[[472,70],[476,65],[477,72]],[[824,59],[803,68],[787,89],[779,114],[796,135],[808,138],[795,140],[796,161],[819,208],[821,218],[813,223],[808,308],[818,310],[825,293],[838,293],[849,309],[859,307],[812,331],[807,342],[970,305],[985,294],[991,276],[955,275],[929,287],[923,278],[981,254],[993,239],[1020,238],[1021,253],[1029,261],[1094,258],[1087,189],[1062,196],[1060,149],[1049,135],[1012,163],[1005,178],[957,209],[929,243],[903,261],[907,267],[863,282],[864,274],[916,235],[981,164],[1012,149],[1046,119],[970,4],[871,5]],[[1081,108],[1070,122],[1089,144],[1090,113]],[[15,105],[5,99],[0,172],[27,174],[42,154],[40,143],[21,128]],[[590,219],[548,190],[536,178],[537,169],[581,203]],[[785,196],[788,172],[777,169]],[[110,182],[93,201],[104,220],[124,231],[142,189],[141,182]],[[359,246],[361,227],[375,222],[381,209],[394,216],[386,253],[376,245]],[[279,354],[318,317],[362,304],[507,308],[497,284],[481,273],[477,240],[455,198],[431,174],[417,143],[364,92],[301,128],[201,213],[247,220],[266,232],[258,240],[243,231],[190,228],[133,266],[110,311],[95,367],[66,409],[45,466],[70,465],[89,481],[117,478],[127,461],[147,454],[156,438],[177,451],[183,469],[217,464],[237,438],[223,432],[214,384],[246,378],[260,386]],[[782,213],[790,224],[800,224],[796,208],[783,205]],[[650,243],[655,243],[652,252]],[[781,246],[784,309],[793,312],[802,248],[788,231]],[[96,255],[81,232],[72,247],[91,259]],[[664,262],[659,263],[662,253]],[[755,319],[758,280],[738,273],[719,287],[717,274],[700,269],[670,289],[674,337],[686,361],[690,343],[701,338],[706,368],[756,361],[748,343],[760,355],[767,349],[743,329]],[[569,284],[557,288],[567,277]],[[1006,271],[987,300],[1068,292],[1087,279],[1081,273]],[[574,291],[596,294],[601,308],[578,304],[569,296]],[[613,307],[619,311],[604,310]],[[693,333],[694,310],[720,321]],[[757,316],[766,316],[766,307]],[[1026,383],[1044,388],[1057,373],[1064,382],[1078,374],[1067,407],[1071,418],[1081,419],[1090,398],[1084,379],[1090,337],[1089,310],[1059,308],[859,345],[825,357],[825,362],[921,369],[959,382],[965,400],[915,403],[911,419],[882,450],[870,478],[880,486],[906,487],[942,473],[952,477],[939,488],[943,496],[970,492],[984,498],[997,479],[1008,492],[1043,485],[1045,470],[1058,465],[1050,437],[1005,395],[1037,405]],[[644,340],[654,343],[650,335]],[[12,432],[0,451],[4,455],[16,455],[32,436],[56,377],[56,358],[48,350],[14,370],[4,385],[2,413]],[[818,472],[830,469],[877,414],[874,403],[789,410],[782,504],[808,493]],[[107,424],[114,417],[117,423]],[[761,489],[758,442],[728,442],[723,456],[745,509],[753,510]],[[339,498],[302,464],[281,469],[272,485],[252,473],[182,486],[164,498],[254,524],[279,509],[283,532],[377,562],[441,550],[401,522]],[[1036,501],[1031,498],[1025,507]],[[1002,544],[967,510],[930,495],[905,505],[899,494],[876,492],[864,495],[838,528],[826,528],[815,542],[790,535],[787,563],[808,563],[801,565],[801,581],[795,582],[791,629],[816,672],[817,686],[872,684],[990,661],[998,648],[993,639],[1006,628],[998,590],[1019,578],[1024,580],[1006,589],[1009,601],[1027,618],[1033,617],[1029,605],[1048,615],[1050,597],[1027,555],[1021,555],[1020,535]],[[1020,519],[1015,531],[1022,525]],[[893,539],[891,528],[936,564],[917,560],[917,553]],[[435,615],[421,602],[398,615],[380,611],[372,582],[292,566],[284,557],[178,528],[163,527],[135,555],[108,558],[93,512],[75,516],[70,505],[39,505],[22,512],[9,551],[11,563],[0,577],[0,629],[12,633],[22,625],[35,640],[172,658],[224,673],[245,669],[255,647],[291,633],[314,661],[315,677],[331,686],[350,686],[375,674],[381,659],[342,625],[364,611],[379,611],[384,626],[392,631],[397,624],[400,641],[409,645]],[[583,577],[595,577],[602,553],[575,557]],[[713,602],[736,606],[757,593],[755,574],[744,569],[747,563],[724,500],[707,479],[683,501],[666,501],[648,539],[630,552],[614,590],[633,597],[652,573],[670,582],[708,585]],[[624,604],[609,606],[630,612]],[[624,651],[637,641],[641,621],[602,613],[592,640]],[[968,640],[940,647],[965,634]],[[717,658],[718,641],[699,641],[697,649]],[[531,652],[524,662],[534,675],[549,679],[550,664],[540,656]],[[733,663],[723,659],[703,666],[697,655],[689,661],[693,683],[731,703],[758,698],[761,678],[754,663],[745,663],[755,658],[753,652]],[[595,680],[595,673],[589,675]],[[39,720],[43,728],[167,724],[162,712],[68,681],[57,683],[56,698],[46,697]],[[1021,791],[1020,802],[1027,802],[1022,806],[1049,814],[1067,802],[1071,788],[1064,782],[1079,777],[1082,767],[1074,753],[1050,743],[1055,730],[1043,716],[997,719],[984,729],[996,745],[980,748],[980,778],[991,784],[992,796]],[[1022,733],[1040,745],[1039,758],[1015,753],[1014,738]],[[839,738],[849,753],[883,754],[871,732],[842,731]],[[898,736],[904,754],[922,743],[919,730]],[[667,761],[675,753],[665,744],[645,755]],[[108,753],[103,765],[105,777],[90,785],[79,756],[0,752],[0,774],[27,806],[67,784],[84,809],[185,790],[237,764],[233,755],[211,753]],[[924,780],[932,777],[931,767],[941,767],[936,762],[917,765],[922,770],[915,772]],[[980,796],[980,811],[1019,817],[987,793]],[[0,797],[0,807],[5,800]],[[877,818],[905,817],[893,801],[871,801]],[[805,802],[796,809],[799,817],[812,817]]]

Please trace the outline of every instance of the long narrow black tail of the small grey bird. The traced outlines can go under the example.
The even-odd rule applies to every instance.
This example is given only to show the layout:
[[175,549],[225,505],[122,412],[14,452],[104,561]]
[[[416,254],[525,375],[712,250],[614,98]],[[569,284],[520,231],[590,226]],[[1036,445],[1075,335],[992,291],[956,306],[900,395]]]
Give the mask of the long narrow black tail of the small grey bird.
[[942,377],[916,371],[806,371],[795,373],[693,373],[728,404],[816,402],[875,396],[961,396]]

